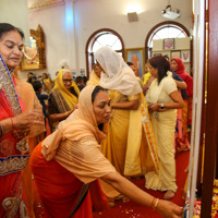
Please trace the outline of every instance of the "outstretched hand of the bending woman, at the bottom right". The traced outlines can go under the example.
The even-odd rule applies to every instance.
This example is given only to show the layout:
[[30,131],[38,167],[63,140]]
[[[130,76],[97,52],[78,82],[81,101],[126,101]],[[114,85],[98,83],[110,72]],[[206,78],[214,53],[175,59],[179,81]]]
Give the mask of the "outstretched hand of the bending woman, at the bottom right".
[[157,205],[157,211],[165,218],[180,218],[182,217],[183,207],[169,202],[159,199]]

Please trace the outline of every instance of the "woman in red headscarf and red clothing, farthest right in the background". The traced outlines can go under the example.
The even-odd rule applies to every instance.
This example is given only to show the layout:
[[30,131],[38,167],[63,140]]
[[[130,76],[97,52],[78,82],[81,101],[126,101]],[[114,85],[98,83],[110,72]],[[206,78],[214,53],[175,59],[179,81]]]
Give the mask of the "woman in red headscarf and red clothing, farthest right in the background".
[[[190,142],[187,133],[190,132],[192,125],[192,97],[193,97],[193,77],[186,73],[184,70],[184,63],[180,58],[171,59],[171,70],[174,71],[187,85],[186,93],[182,98],[185,102],[182,109],[182,136],[175,137],[175,148],[178,152],[184,152],[190,149]],[[177,136],[177,133],[175,133]]]

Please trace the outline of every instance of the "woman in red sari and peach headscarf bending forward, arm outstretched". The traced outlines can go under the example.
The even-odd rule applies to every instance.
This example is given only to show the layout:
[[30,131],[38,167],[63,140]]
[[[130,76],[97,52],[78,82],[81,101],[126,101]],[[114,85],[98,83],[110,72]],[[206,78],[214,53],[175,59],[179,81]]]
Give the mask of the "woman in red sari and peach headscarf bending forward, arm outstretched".
[[[157,199],[121,177],[100,152],[110,119],[110,98],[100,86],[85,87],[78,109],[61,122],[34,150],[31,159],[34,178],[46,216],[92,218],[102,205],[104,195],[96,184],[101,178],[131,199],[157,209],[164,217],[180,217],[182,208]],[[88,189],[89,184],[89,189]]]

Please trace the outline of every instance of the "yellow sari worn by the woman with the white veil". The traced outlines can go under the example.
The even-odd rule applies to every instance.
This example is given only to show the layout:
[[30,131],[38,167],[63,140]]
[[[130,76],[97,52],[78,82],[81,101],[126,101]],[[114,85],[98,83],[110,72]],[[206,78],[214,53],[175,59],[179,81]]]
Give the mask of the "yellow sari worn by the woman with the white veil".
[[[138,99],[137,110],[113,109],[102,153],[124,175],[158,171],[158,155],[147,106],[143,94],[124,96],[110,90],[111,102]],[[147,114],[147,116],[146,116]]]

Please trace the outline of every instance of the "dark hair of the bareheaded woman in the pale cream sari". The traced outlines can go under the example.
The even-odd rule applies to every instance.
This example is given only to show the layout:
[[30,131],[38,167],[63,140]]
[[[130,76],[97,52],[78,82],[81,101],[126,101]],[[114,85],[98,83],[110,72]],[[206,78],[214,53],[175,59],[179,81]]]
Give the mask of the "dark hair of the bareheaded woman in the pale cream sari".
[[148,63],[158,70],[158,84],[167,76],[167,72],[170,70],[170,63],[162,56],[155,56],[148,60]]

